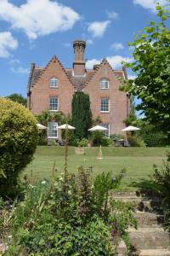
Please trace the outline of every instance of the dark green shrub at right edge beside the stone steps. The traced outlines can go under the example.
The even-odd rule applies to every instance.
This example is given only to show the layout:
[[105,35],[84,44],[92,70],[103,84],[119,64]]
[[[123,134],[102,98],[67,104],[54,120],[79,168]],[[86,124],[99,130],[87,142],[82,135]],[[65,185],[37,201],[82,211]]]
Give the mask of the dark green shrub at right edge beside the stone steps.
[[155,184],[156,192],[161,195],[161,207],[164,212],[164,226],[170,231],[170,152],[167,153],[167,160],[163,161],[161,170],[154,166],[152,181]]

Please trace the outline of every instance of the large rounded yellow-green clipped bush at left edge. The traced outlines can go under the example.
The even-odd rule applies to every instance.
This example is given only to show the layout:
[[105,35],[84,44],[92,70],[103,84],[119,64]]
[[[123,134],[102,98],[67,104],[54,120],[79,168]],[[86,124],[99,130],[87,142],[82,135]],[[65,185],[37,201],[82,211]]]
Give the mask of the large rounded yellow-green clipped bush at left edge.
[[37,146],[37,120],[25,107],[0,98],[0,194],[14,192]]

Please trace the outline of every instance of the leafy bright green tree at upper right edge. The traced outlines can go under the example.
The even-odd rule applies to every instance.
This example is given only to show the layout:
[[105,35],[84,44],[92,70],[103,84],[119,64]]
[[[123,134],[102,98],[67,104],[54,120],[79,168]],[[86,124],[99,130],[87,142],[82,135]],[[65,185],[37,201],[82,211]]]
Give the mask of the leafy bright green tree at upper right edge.
[[[169,0],[167,0],[169,2]],[[136,79],[125,80],[122,90],[138,96],[142,110],[150,124],[164,132],[170,131],[170,13],[156,5],[157,23],[150,21],[133,43],[132,63],[125,63],[137,74]]]

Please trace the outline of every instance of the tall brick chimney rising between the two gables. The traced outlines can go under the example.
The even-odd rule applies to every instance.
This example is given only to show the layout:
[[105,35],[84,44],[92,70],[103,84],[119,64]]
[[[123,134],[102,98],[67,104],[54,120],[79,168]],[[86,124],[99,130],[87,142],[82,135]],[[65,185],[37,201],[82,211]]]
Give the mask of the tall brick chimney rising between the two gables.
[[84,50],[86,48],[86,42],[82,40],[76,40],[73,42],[75,61],[73,62],[73,70],[75,76],[85,75],[85,61]]

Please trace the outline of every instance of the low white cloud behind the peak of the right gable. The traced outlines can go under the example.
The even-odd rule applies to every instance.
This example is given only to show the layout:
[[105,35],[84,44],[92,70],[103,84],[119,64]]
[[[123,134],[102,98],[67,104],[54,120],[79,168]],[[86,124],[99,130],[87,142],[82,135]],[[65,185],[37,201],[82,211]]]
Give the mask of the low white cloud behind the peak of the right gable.
[[[121,55],[108,56],[106,59],[111,64],[111,67],[113,67],[114,69],[116,68],[118,69],[122,67],[122,61],[125,61],[125,62],[133,61],[133,58],[123,57]],[[99,64],[100,62],[101,60],[96,60],[96,59],[89,60],[86,62],[86,67],[93,68],[95,64]]]

